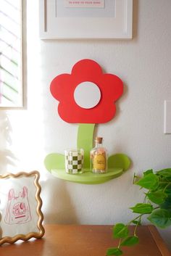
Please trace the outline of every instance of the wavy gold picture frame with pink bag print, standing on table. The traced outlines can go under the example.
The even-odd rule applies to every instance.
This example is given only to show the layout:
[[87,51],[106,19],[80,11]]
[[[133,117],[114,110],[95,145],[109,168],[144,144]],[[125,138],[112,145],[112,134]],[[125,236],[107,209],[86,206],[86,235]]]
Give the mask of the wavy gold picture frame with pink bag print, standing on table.
[[0,176],[0,245],[43,236],[39,178],[37,170]]

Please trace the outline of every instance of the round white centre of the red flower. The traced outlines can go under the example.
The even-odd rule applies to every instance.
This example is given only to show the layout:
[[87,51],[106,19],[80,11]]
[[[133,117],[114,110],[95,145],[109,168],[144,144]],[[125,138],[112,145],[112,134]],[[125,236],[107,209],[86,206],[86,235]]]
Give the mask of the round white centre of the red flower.
[[84,109],[95,107],[101,99],[101,91],[96,83],[83,82],[75,88],[74,99]]

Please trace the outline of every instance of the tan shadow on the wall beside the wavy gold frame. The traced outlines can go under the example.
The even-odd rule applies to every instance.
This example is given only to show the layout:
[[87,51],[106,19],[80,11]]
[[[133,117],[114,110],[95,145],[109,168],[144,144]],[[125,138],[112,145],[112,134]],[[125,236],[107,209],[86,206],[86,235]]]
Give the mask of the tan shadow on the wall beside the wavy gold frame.
[[46,181],[41,181],[44,223],[75,224],[78,223],[77,212],[72,196],[67,191],[64,181],[57,180],[49,174]]

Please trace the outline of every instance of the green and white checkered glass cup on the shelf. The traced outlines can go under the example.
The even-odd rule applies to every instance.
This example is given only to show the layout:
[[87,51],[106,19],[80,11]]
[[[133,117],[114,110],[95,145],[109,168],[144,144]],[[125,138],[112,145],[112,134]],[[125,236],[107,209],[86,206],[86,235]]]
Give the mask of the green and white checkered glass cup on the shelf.
[[83,173],[83,149],[69,149],[64,151],[66,173]]

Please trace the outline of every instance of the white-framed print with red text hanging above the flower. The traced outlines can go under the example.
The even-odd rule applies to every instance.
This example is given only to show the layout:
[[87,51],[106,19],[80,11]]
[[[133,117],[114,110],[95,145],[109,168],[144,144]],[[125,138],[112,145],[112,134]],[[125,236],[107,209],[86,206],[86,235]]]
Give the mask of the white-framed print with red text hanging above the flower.
[[39,0],[41,39],[130,39],[133,0]]

